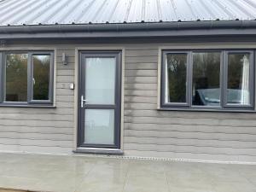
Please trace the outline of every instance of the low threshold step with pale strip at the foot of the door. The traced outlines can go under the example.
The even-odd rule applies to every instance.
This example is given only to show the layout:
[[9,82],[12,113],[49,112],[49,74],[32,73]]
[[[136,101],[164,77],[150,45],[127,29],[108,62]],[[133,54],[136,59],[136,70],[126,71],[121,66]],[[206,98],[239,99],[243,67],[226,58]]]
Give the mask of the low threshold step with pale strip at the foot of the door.
[[76,148],[73,152],[87,154],[124,154],[119,148]]

